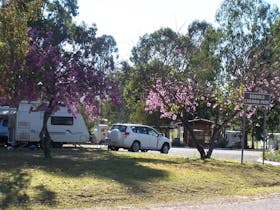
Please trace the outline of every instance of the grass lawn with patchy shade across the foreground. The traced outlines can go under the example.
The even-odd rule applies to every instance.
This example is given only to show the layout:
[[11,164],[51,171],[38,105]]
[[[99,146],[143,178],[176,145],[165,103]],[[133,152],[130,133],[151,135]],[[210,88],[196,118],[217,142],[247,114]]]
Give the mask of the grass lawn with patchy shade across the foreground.
[[0,148],[0,209],[60,209],[280,192],[280,167],[102,149]]

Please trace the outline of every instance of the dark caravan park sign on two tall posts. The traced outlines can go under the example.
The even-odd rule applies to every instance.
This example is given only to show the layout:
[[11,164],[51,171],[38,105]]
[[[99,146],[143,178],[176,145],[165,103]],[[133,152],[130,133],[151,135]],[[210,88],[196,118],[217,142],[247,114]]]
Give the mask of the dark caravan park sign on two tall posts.
[[[265,141],[266,141],[266,108],[270,105],[270,94],[262,94],[255,92],[244,92],[244,105],[252,105],[252,106],[263,106],[265,108],[264,112],[264,123],[263,123],[263,164],[264,164],[264,153],[265,153]],[[246,106],[244,106],[243,113],[243,128],[242,128],[242,152],[241,152],[241,164],[243,164],[244,159],[244,143],[245,143],[245,127],[246,127]]]

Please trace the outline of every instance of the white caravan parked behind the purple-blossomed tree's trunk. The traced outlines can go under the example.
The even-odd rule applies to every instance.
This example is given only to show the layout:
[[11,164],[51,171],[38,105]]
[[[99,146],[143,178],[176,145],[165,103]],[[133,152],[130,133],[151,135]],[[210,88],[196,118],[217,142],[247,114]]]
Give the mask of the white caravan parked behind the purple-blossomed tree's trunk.
[[[39,134],[43,126],[44,111],[32,111],[40,102],[21,102],[16,112],[14,138],[9,139],[11,145],[18,143],[40,143]],[[9,125],[12,123],[9,123]],[[64,143],[85,143],[89,141],[89,132],[83,116],[73,117],[67,108],[60,109],[50,116],[48,131],[54,147],[61,147]]]

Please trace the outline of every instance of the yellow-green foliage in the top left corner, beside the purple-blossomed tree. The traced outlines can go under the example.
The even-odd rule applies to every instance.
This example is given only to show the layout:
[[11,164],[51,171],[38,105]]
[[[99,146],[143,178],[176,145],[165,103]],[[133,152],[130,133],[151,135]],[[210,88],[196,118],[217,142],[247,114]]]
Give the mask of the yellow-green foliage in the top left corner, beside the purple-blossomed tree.
[[9,0],[0,4],[0,82],[5,87],[5,92],[0,88],[0,102],[3,105],[13,105],[14,97],[18,96],[17,66],[28,53],[28,24],[40,18],[41,6],[40,0]]

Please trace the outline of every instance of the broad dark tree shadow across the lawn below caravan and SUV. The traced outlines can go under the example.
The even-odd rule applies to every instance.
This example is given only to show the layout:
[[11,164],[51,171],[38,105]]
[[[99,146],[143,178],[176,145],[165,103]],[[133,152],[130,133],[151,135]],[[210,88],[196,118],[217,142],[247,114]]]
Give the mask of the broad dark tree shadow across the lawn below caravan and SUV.
[[[53,149],[53,159],[47,160],[39,150],[32,152],[26,149],[4,153],[0,151],[0,159],[5,159],[5,162],[0,163],[0,167],[1,164],[5,164],[5,171],[11,176],[13,176],[12,171],[16,168],[36,168],[66,178],[92,176],[114,180],[131,189],[133,193],[143,193],[145,189],[139,185],[140,182],[164,179],[169,174],[165,170],[146,167],[141,163],[158,164],[162,162],[166,164],[168,160],[143,158],[140,153],[138,154],[134,153],[133,156],[130,156],[121,152],[100,149],[66,148]],[[39,202],[55,200],[55,194],[43,189],[43,186],[37,187],[37,191],[39,192],[37,198]]]

